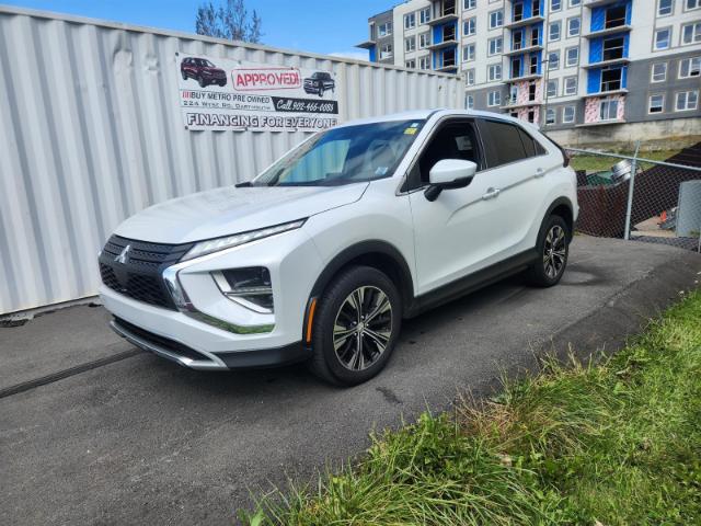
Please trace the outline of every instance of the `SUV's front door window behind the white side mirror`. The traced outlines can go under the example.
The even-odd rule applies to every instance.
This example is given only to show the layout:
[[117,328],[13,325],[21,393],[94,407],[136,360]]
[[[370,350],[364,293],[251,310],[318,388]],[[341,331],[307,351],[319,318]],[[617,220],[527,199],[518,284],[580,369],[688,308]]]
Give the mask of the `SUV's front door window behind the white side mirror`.
[[480,150],[474,124],[453,122],[444,124],[430,139],[418,160],[420,185],[428,183],[430,169],[444,159],[463,159],[480,167]]

